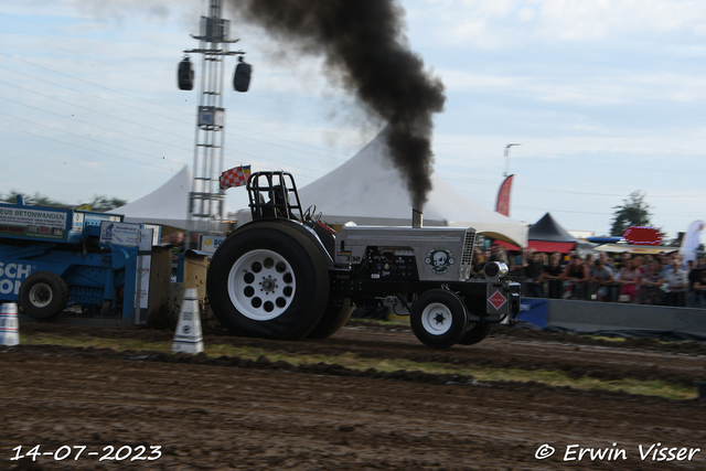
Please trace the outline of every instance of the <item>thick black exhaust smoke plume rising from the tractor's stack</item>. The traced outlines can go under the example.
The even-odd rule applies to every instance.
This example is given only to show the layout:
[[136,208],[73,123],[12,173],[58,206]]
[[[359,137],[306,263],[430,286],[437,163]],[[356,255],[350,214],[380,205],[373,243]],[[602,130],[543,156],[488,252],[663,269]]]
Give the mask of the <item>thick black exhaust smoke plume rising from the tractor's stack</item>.
[[443,84],[425,71],[403,33],[396,0],[227,0],[240,19],[259,24],[282,46],[324,57],[332,83],[388,124],[384,137],[395,167],[422,208],[431,190],[431,115],[443,110]]

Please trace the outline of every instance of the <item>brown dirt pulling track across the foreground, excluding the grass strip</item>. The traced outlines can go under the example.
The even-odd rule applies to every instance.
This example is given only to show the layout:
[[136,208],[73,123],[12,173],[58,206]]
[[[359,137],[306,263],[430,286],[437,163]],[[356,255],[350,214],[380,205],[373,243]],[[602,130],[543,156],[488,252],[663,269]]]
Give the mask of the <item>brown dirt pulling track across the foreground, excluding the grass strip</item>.
[[[23,324],[67,336],[170,341],[153,330]],[[271,342],[212,333],[208,342],[266,351],[410,358],[523,370],[554,368],[602,379],[706,379],[704,344],[624,342],[616,347],[573,335],[498,331],[483,343],[434,351],[407,330],[345,328],[325,341]],[[478,383],[411,372],[293,367],[243,358],[111,352],[60,346],[0,347],[0,469],[705,469],[706,400],[580,392],[542,384]],[[659,448],[685,448],[683,461],[653,461]],[[544,443],[554,456],[538,460]],[[616,443],[616,445],[613,445]],[[40,452],[71,451],[12,461]],[[567,448],[578,445],[578,447]],[[78,448],[87,447],[78,460]],[[100,458],[121,449],[125,460]],[[154,460],[130,461],[159,446]],[[67,447],[72,447],[71,449]],[[121,448],[124,447],[124,448]],[[579,449],[608,449],[602,460],[564,461]],[[657,447],[655,447],[657,448]],[[15,449],[15,450],[13,450]],[[567,453],[568,450],[568,454]],[[624,450],[624,451],[620,451]],[[128,452],[131,454],[128,456]],[[89,456],[89,452],[96,454]],[[623,456],[627,458],[623,460]],[[668,459],[670,453],[665,451]],[[609,460],[612,458],[612,460]]]

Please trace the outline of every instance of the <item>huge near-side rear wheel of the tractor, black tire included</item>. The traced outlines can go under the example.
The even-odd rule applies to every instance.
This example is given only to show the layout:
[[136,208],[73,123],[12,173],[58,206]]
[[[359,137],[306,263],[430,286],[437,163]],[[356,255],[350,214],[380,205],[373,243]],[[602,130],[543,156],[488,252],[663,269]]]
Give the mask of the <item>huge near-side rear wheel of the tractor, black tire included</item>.
[[329,272],[314,242],[297,228],[256,222],[221,244],[206,292],[214,315],[235,335],[298,340],[323,314]]

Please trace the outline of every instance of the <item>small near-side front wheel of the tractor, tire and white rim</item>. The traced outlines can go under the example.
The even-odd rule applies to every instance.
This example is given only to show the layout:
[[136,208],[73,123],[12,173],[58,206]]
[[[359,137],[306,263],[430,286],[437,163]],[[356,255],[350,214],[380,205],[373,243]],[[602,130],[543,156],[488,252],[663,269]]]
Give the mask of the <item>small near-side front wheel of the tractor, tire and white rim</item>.
[[454,292],[431,289],[411,304],[411,331],[421,343],[432,349],[448,349],[466,333],[468,311]]

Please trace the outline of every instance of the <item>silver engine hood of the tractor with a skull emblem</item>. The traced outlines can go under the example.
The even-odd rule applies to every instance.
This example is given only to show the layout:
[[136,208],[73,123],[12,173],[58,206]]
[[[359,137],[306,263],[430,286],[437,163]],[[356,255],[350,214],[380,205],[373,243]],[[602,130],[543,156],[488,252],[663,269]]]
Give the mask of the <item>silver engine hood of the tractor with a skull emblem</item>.
[[368,247],[414,256],[419,280],[467,281],[471,277],[475,229],[464,227],[344,226],[335,237],[335,265],[365,260]]

